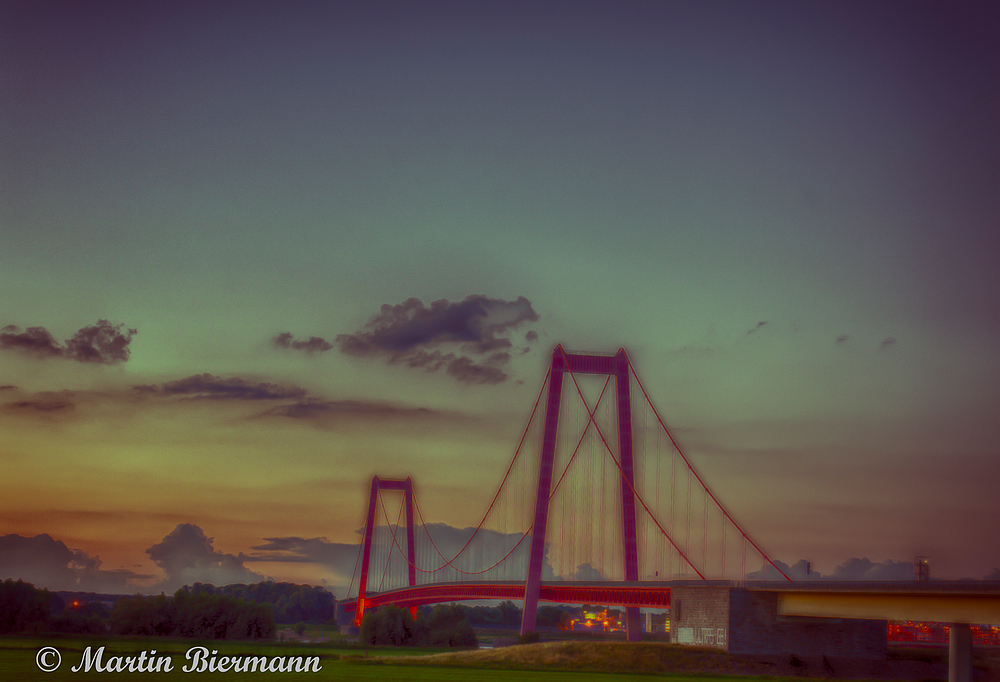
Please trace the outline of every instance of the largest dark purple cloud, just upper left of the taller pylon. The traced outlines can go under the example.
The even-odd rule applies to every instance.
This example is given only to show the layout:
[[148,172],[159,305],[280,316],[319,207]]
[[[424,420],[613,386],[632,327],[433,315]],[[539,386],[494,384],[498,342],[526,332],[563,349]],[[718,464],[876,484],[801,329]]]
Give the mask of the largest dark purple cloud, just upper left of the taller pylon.
[[[510,359],[508,349],[513,346],[504,334],[537,319],[523,296],[516,301],[486,296],[457,303],[442,299],[429,307],[411,298],[383,305],[365,329],[337,336],[336,344],[347,355],[378,357],[426,372],[443,368],[459,381],[495,384],[507,379],[496,365]],[[473,359],[483,355],[490,357],[485,362]]]

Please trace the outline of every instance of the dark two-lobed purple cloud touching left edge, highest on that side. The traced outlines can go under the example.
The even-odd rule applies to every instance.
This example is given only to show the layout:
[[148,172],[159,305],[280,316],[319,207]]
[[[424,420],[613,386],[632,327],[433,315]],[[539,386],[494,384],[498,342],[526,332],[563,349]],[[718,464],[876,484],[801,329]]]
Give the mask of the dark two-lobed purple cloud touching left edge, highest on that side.
[[[123,331],[124,330],[124,331]],[[129,344],[137,334],[135,329],[124,329],[124,325],[112,325],[107,320],[79,329],[61,346],[44,327],[20,327],[7,325],[0,330],[0,349],[17,349],[37,357],[62,357],[83,363],[111,365],[125,362],[129,358]]]

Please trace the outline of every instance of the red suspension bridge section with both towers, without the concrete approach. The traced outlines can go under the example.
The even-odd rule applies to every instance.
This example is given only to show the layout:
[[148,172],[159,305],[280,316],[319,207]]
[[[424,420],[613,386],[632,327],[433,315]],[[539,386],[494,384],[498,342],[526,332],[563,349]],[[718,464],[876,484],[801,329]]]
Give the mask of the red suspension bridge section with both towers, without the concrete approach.
[[[398,510],[386,497],[399,498]],[[410,478],[372,479],[345,606],[360,624],[366,608],[382,604],[415,612],[441,601],[512,599],[524,602],[527,633],[540,601],[618,605],[628,639],[638,640],[639,607],[669,607],[670,580],[742,579],[748,555],[753,569],[770,565],[788,578],[681,450],[625,350],[557,346],[475,528],[456,534],[427,523]]]

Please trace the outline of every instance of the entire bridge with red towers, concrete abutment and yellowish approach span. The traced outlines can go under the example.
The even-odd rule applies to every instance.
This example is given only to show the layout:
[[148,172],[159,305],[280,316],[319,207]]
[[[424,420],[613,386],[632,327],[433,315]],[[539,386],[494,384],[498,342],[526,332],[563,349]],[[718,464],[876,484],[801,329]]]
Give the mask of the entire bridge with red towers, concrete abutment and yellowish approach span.
[[[747,581],[751,562],[779,580]],[[411,478],[372,479],[348,594],[355,625],[384,604],[523,601],[521,634],[539,602],[621,606],[629,641],[640,607],[670,608],[673,641],[732,653],[885,658],[887,620],[950,623],[952,682],[972,679],[969,624],[1000,622],[1000,582],[792,582],[681,450],[625,350],[562,346],[477,526],[428,523]]]

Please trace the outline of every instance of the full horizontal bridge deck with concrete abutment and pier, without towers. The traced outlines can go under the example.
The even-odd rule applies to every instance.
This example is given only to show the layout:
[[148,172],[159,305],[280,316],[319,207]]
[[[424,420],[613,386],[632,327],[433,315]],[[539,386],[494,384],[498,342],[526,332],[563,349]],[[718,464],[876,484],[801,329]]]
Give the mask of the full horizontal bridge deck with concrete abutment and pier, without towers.
[[[523,581],[432,583],[368,592],[363,604],[355,599],[341,606],[363,612],[385,604],[415,609],[479,599],[523,601],[524,590]],[[1000,623],[1000,581],[566,581],[541,583],[538,598],[669,609],[671,641],[730,653],[884,657],[885,621],[948,623],[952,682],[972,679],[969,625]],[[854,649],[834,653],[829,642],[844,639],[848,631]],[[777,641],[789,651],[771,651]]]

